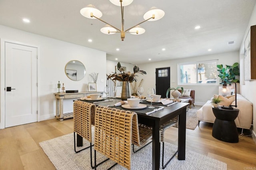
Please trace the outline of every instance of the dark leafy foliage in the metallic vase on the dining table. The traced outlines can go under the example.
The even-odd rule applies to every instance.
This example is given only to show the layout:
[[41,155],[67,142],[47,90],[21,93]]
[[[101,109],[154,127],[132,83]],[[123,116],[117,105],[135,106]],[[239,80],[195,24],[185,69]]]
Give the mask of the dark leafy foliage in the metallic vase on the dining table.
[[117,63],[117,69],[120,71],[120,73],[113,73],[108,75],[108,79],[113,78],[113,80],[118,80],[118,81],[129,81],[130,83],[133,81],[137,81],[136,79],[136,73],[140,73],[142,75],[147,74],[146,71],[140,70],[140,68],[135,65],[133,67],[133,72],[131,73],[130,71],[124,72],[124,68],[121,66],[120,62]]

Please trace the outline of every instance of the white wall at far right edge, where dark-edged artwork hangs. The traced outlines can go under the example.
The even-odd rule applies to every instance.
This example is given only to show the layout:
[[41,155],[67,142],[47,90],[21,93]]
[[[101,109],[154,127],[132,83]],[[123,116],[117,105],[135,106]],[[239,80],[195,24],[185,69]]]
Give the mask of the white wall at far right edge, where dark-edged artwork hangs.
[[[247,29],[244,33],[244,39],[242,41],[241,47],[240,47],[240,63],[244,63],[244,40],[246,38],[246,35],[248,34],[248,31],[250,29],[250,26],[256,25],[256,6],[254,6],[254,10],[252,12],[249,24],[247,26]],[[256,61],[251,61],[254,63],[254,67],[256,64]],[[244,65],[243,67],[240,67],[240,91],[241,94],[251,101],[253,103],[253,138],[254,142],[256,143],[256,80],[252,81],[244,81]]]

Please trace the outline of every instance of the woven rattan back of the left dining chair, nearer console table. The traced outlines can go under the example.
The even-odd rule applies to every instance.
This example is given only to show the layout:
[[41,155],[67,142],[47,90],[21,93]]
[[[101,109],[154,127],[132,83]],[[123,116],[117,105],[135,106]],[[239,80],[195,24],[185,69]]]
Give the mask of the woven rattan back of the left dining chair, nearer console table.
[[74,132],[91,143],[96,105],[76,100],[73,109]]

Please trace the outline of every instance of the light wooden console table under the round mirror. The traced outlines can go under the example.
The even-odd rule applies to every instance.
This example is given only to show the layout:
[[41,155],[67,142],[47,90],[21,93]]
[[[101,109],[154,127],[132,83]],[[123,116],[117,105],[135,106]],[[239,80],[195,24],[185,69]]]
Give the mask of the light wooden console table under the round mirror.
[[78,99],[80,97],[89,96],[92,93],[100,93],[100,96],[103,95],[102,91],[94,91],[94,92],[78,92],[78,93],[54,93],[56,99],[56,119],[59,121],[63,121],[63,119],[68,119],[73,117],[72,113],[64,113],[63,114],[63,99]]

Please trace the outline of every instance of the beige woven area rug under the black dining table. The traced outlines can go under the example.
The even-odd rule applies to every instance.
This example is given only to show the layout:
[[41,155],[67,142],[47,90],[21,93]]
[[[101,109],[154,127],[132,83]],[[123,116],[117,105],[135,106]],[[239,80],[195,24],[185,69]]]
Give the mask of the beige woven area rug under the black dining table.
[[[73,133],[60,136],[39,143],[45,154],[57,170],[91,170],[90,166],[90,148],[79,153],[74,152],[74,135]],[[84,146],[89,146],[84,140]],[[162,148],[162,147],[161,147]],[[77,148],[77,149],[80,149]],[[164,158],[167,160],[168,154],[173,154],[177,146],[165,143]],[[162,153],[162,151],[160,152]],[[162,155],[162,154],[161,154]],[[97,162],[104,160],[105,157],[97,153]],[[162,158],[161,158],[162,159]],[[94,160],[94,150],[93,150]],[[152,145],[149,144],[137,153],[132,152],[131,159],[132,170],[151,170],[152,169]],[[98,166],[98,170],[106,170],[114,162],[108,160]],[[112,170],[125,170],[126,168],[116,165]],[[162,169],[162,168],[160,168]],[[165,170],[226,170],[227,165],[224,162],[212,159],[194,151],[186,150],[186,160],[178,160],[177,154],[169,162]]]

